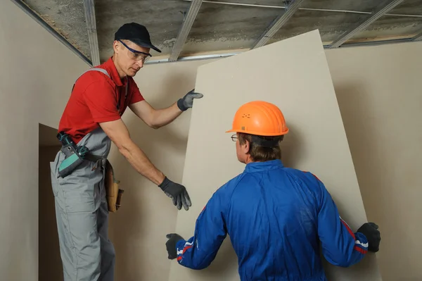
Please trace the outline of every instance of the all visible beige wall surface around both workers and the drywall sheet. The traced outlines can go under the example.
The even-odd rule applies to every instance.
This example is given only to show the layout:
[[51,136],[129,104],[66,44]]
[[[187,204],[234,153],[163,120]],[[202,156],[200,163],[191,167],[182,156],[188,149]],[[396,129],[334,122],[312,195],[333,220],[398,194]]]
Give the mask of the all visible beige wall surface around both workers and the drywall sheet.
[[[37,280],[38,125],[57,127],[72,83],[88,65],[11,1],[1,3],[0,50],[6,52],[0,56],[0,189],[5,199],[0,204],[0,273],[2,280]],[[381,273],[387,281],[421,280],[422,210],[416,200],[422,186],[417,177],[422,44],[328,50],[326,56],[367,216],[383,232],[377,254]],[[193,87],[196,68],[208,62],[148,65],[136,81],[153,106],[168,106]],[[189,118],[188,111],[152,130],[129,111],[124,115],[136,143],[175,181],[181,180]],[[126,189],[122,209],[110,219],[116,277],[167,280],[165,234],[174,230],[177,210],[114,147],[110,159]]]

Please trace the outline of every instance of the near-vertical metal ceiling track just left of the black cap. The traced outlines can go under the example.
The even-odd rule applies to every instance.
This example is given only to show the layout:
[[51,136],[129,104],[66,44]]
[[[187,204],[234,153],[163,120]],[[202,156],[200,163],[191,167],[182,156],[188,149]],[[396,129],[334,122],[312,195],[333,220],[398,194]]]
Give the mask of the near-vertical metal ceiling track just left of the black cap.
[[85,21],[91,49],[92,65],[100,65],[100,51],[98,49],[98,37],[96,32],[95,3],[94,0],[84,0]]

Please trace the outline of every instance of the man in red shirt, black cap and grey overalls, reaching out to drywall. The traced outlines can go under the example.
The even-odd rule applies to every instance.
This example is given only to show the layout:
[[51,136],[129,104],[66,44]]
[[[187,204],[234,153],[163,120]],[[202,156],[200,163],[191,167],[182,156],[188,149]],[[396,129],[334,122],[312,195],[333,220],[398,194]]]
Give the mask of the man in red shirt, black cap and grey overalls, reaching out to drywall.
[[[146,125],[159,128],[191,108],[193,99],[203,96],[192,90],[168,108],[155,109],[148,104],[133,77],[151,57],[150,49],[160,52],[151,43],[146,27],[122,25],[115,33],[113,56],[77,79],[60,120],[60,140],[68,141],[51,162],[51,180],[66,281],[113,280],[115,249],[108,239],[104,188],[111,142],[141,175],[172,199],[174,206],[179,210],[191,206],[186,188],[172,182],[148,160],[121,119],[129,107]],[[84,149],[89,150],[87,159],[91,161],[83,158],[79,163]]]

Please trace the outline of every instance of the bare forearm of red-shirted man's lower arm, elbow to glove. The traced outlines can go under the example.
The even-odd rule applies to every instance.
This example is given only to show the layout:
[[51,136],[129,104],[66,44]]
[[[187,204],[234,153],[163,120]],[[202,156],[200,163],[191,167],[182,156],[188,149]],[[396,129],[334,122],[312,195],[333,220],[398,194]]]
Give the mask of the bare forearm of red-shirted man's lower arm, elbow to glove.
[[154,182],[155,185],[160,185],[160,183],[162,183],[165,175],[155,168],[146,154],[144,154],[134,142],[122,146],[119,150],[138,173],[148,178],[148,180],[151,180],[151,182]]

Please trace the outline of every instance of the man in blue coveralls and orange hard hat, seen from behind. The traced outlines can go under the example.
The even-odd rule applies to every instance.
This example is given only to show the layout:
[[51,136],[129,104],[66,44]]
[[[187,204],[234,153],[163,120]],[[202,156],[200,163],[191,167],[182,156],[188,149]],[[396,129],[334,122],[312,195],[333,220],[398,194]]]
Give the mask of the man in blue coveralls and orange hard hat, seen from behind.
[[242,281],[321,281],[326,275],[320,242],[335,266],[352,266],[367,251],[378,251],[378,225],[364,223],[353,232],[315,175],[283,166],[279,142],[288,127],[277,106],[244,104],[227,132],[236,132],[232,139],[245,170],[212,195],[193,237],[167,235],[168,258],[186,268],[206,268],[229,234]]

